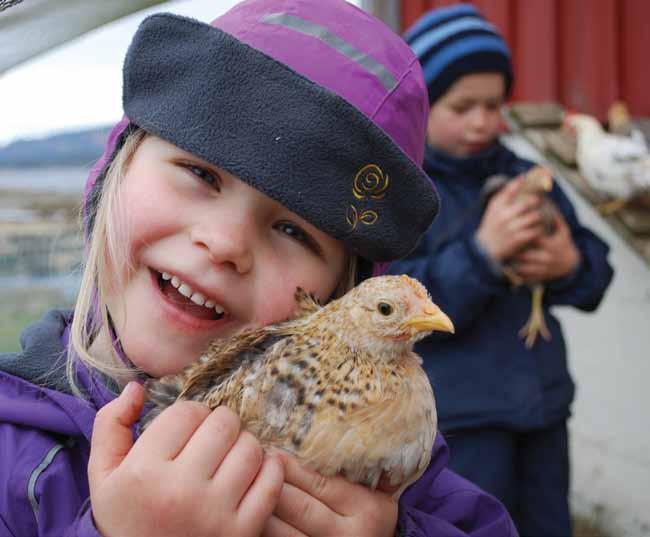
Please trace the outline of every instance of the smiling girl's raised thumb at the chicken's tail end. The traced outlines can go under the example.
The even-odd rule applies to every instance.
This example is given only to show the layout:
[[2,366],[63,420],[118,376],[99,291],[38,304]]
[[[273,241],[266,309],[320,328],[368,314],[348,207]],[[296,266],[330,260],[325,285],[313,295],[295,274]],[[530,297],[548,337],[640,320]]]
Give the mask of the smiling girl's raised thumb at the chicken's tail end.
[[144,390],[137,382],[129,382],[119,397],[102,407],[93,425],[88,461],[88,477],[99,484],[115,468],[133,446],[131,426],[144,404]]

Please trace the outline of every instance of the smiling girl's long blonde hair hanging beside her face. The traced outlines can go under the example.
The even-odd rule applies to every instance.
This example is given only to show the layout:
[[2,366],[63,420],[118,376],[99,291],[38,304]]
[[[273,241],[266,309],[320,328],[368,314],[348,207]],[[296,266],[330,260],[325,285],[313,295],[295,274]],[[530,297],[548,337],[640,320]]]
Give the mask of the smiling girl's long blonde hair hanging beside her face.
[[[134,131],[113,158],[101,185],[92,232],[89,231],[89,247],[75,304],[67,360],[68,381],[73,392],[81,397],[84,395],[76,383],[74,367],[77,358],[120,387],[138,373],[137,368],[120,356],[117,334],[115,337],[118,339],[108,345],[108,355],[96,356],[91,347],[98,337],[113,337],[107,297],[119,294],[133,271],[132,260],[124,247],[128,244],[129,229],[125,225],[128,219],[121,202],[120,186],[133,155],[146,136],[148,134],[142,129]],[[357,268],[357,256],[347,255],[343,276],[330,299],[343,296],[356,285]],[[120,307],[125,307],[125,304]]]

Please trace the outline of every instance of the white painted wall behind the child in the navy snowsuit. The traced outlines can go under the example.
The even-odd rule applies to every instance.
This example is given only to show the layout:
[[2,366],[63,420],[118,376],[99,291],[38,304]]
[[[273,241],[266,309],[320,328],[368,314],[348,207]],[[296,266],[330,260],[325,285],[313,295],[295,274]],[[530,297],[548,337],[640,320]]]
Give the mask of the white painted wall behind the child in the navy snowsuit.
[[[518,136],[518,154],[543,162]],[[607,241],[615,276],[595,313],[557,308],[577,385],[571,434],[576,513],[616,537],[650,536],[650,269],[567,182],[578,218]]]

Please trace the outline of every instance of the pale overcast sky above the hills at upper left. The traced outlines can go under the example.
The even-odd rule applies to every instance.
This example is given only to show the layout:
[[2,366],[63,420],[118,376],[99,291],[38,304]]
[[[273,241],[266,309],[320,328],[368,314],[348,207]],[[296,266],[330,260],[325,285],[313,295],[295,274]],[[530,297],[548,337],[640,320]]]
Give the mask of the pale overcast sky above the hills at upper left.
[[4,73],[0,76],[0,145],[116,122],[122,114],[122,61],[144,17],[170,11],[207,22],[236,3],[181,0],[160,4]]

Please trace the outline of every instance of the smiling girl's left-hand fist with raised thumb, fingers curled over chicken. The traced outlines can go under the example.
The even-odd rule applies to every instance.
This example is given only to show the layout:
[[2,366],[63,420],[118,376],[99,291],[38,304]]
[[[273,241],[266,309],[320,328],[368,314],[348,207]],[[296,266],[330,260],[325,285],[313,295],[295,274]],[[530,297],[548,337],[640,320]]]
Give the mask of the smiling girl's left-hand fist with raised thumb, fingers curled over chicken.
[[103,537],[257,536],[284,480],[282,462],[264,457],[220,407],[173,404],[133,443],[144,402],[131,382],[95,419],[88,476]]

